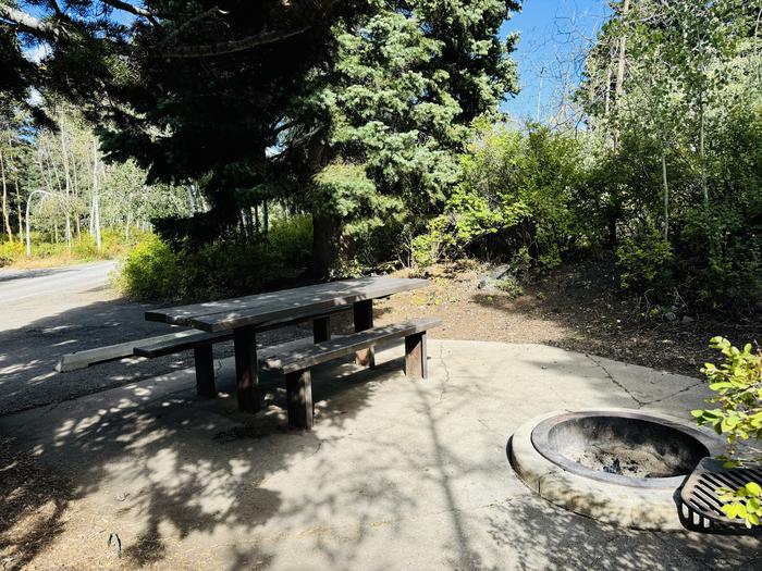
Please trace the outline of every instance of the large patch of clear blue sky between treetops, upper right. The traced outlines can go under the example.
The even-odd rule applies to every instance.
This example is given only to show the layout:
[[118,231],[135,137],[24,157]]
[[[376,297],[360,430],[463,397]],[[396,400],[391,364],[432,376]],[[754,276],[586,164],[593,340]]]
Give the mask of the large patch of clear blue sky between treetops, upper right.
[[501,28],[503,37],[513,32],[521,35],[514,52],[521,92],[508,99],[503,110],[517,119],[537,119],[542,71],[540,119],[553,114],[561,86],[579,83],[583,49],[610,13],[606,0],[524,0],[521,12]]

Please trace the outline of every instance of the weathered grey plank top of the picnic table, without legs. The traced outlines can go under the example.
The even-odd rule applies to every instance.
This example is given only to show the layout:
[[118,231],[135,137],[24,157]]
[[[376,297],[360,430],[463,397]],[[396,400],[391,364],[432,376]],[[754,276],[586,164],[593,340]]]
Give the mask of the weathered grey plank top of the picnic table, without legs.
[[419,289],[428,283],[427,280],[402,277],[342,280],[220,301],[156,309],[147,311],[146,319],[219,332],[290,316],[318,314],[356,301]]

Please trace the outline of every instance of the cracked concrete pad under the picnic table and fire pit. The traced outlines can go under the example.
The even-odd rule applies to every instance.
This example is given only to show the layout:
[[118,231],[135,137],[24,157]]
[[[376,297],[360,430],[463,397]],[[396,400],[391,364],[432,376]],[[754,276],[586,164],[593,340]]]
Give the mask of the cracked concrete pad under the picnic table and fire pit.
[[188,370],[0,418],[1,434],[72,481],[30,568],[735,569],[759,557],[759,539],[561,510],[508,464],[508,438],[534,415],[689,419],[698,381],[539,345],[431,340],[429,357],[423,381],[402,374],[398,346],[372,371],[316,368],[312,432],[287,429],[271,373],[270,406],[238,412],[230,359],[216,399],[195,396]]

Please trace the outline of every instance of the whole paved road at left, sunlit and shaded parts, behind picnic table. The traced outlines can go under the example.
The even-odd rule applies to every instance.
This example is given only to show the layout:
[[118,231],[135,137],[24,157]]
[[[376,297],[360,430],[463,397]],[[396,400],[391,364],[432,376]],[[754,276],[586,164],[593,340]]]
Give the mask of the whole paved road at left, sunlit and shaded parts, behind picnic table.
[[[148,361],[127,359],[57,373],[64,353],[143,339],[172,331],[146,321],[152,305],[121,298],[111,289],[114,262],[77,266],[0,270],[0,415],[60,402],[193,365],[193,351]],[[268,332],[266,344],[299,334],[293,327]],[[232,355],[232,344],[214,347]]]

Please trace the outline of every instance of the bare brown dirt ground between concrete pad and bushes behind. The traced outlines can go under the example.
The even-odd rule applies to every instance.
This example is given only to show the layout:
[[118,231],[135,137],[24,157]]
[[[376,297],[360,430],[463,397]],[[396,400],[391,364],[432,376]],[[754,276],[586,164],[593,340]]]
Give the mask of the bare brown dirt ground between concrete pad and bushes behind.
[[716,360],[711,337],[722,335],[736,345],[762,343],[759,321],[691,312],[681,300],[668,319],[648,316],[653,309],[648,299],[624,295],[614,266],[605,262],[562,266],[525,286],[516,298],[479,289],[486,271],[474,263],[433,266],[421,275],[432,282],[427,290],[382,301],[377,320],[438,316],[443,325],[432,337],[539,343],[697,377],[704,362]]

